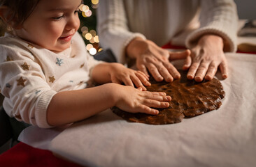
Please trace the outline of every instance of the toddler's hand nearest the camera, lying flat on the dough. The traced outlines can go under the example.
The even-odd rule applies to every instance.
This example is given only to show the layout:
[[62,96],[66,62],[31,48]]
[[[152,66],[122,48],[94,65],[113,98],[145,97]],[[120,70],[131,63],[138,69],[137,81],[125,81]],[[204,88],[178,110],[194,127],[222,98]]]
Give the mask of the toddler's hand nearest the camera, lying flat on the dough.
[[119,86],[116,90],[118,99],[115,106],[129,113],[157,115],[159,111],[150,107],[167,108],[171,101],[171,97],[162,92],[142,91],[142,88],[135,89],[130,86]]

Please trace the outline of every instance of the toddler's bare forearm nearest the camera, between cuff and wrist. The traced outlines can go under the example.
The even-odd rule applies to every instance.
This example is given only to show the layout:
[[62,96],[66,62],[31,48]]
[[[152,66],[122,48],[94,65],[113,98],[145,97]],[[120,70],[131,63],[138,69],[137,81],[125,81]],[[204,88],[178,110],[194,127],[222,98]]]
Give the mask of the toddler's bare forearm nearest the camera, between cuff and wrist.
[[114,93],[113,84],[59,92],[48,106],[48,123],[59,126],[94,116],[115,105]]

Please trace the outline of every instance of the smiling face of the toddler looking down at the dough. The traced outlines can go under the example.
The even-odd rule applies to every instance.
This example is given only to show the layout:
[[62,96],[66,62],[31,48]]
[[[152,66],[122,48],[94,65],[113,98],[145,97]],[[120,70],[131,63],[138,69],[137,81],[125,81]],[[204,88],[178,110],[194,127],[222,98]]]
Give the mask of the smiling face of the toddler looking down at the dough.
[[17,35],[45,49],[59,52],[69,48],[80,26],[81,0],[41,0],[22,24]]

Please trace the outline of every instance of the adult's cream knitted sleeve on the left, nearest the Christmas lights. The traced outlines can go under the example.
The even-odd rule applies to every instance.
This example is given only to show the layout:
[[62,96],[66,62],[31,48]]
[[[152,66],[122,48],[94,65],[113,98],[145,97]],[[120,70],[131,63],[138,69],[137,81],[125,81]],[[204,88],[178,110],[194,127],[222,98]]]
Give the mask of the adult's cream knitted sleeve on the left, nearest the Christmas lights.
[[97,15],[97,32],[102,47],[110,48],[118,62],[125,63],[125,47],[132,39],[145,39],[145,36],[129,31],[123,1],[99,1]]

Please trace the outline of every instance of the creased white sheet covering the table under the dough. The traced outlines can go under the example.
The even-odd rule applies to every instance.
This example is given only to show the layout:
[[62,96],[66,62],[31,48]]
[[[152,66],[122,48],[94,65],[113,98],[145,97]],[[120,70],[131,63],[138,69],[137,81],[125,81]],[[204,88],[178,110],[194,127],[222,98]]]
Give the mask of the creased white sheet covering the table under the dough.
[[145,125],[108,109],[52,137],[49,149],[86,166],[255,166],[256,56],[227,54],[227,61],[218,110],[173,125]]

